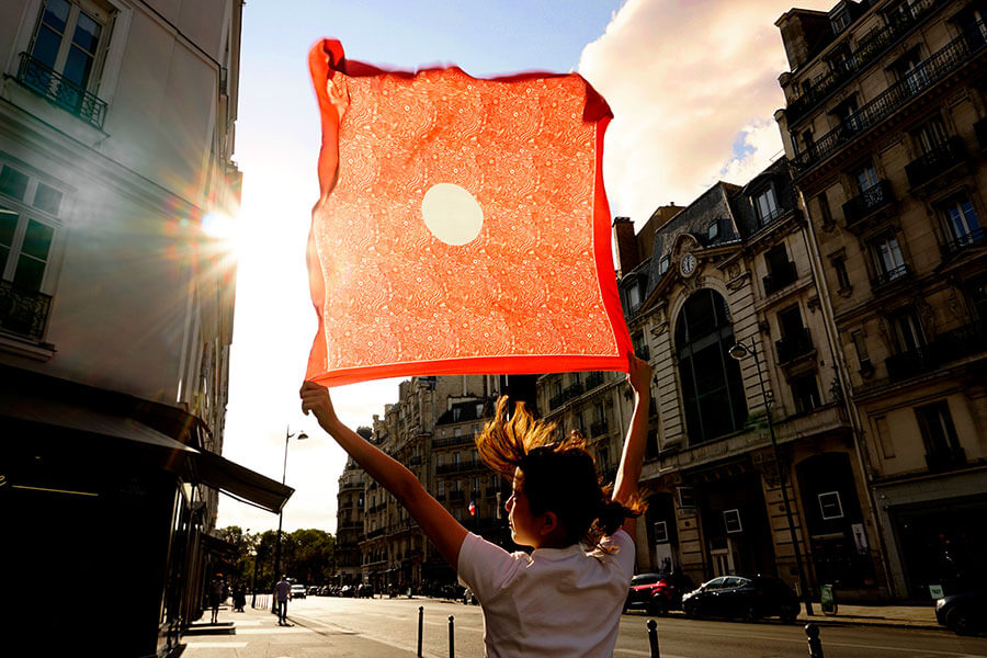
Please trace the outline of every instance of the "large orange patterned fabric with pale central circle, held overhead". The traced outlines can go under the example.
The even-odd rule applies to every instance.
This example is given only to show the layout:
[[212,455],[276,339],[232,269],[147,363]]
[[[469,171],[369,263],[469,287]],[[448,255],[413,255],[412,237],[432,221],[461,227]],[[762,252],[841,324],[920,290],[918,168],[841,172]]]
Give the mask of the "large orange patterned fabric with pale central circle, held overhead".
[[[322,145],[308,379],[626,372],[601,166],[611,114],[586,80],[386,71],[330,39],[309,67]],[[465,243],[423,214],[443,183],[481,213],[452,216],[478,231]]]

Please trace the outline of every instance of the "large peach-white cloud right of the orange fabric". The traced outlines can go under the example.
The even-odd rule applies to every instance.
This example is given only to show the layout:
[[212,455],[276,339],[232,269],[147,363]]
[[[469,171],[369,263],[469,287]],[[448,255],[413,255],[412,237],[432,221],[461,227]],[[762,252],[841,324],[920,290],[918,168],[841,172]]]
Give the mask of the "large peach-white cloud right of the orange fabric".
[[746,183],[781,155],[773,115],[787,60],[774,21],[791,8],[628,0],[583,49],[579,72],[614,113],[603,162],[614,214],[639,226],[659,205],[687,205],[717,180]]

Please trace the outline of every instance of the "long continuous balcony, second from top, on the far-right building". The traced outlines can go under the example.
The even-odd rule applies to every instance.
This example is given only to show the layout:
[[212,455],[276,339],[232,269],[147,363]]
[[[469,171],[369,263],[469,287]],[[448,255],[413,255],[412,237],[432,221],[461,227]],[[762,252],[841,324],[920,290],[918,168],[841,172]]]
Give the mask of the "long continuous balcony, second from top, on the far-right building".
[[984,50],[985,42],[960,36],[916,67],[908,78],[892,84],[839,126],[822,135],[795,159],[804,173],[826,160],[875,125],[904,107],[919,93],[943,80]]

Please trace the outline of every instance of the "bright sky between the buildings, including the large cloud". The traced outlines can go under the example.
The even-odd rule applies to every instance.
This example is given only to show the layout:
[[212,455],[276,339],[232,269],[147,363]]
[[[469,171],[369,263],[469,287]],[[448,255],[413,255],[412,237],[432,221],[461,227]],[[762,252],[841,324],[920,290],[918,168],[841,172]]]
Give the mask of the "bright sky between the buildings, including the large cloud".
[[[828,10],[835,0],[798,1]],[[284,529],[336,531],[345,454],[300,412],[316,315],[305,243],[318,197],[318,107],[309,47],[350,59],[473,76],[577,71],[609,102],[603,175],[614,216],[640,227],[718,180],[745,183],[782,152],[774,111],[787,70],[774,21],[792,0],[250,0],[243,8],[235,160],[243,171],[236,320],[224,455],[295,494]],[[371,426],[399,379],[332,389],[341,419]],[[305,432],[308,439],[287,440]],[[274,530],[277,517],[220,497],[217,525]]]

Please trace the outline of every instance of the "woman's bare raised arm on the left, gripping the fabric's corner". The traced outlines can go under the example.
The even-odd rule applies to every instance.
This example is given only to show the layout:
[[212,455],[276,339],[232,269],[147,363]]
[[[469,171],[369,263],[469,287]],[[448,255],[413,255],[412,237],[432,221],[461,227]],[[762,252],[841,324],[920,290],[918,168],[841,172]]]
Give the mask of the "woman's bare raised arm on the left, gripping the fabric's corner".
[[325,386],[305,382],[300,394],[302,410],[306,415],[311,411],[322,429],[366,470],[367,475],[408,508],[442,557],[456,569],[460,547],[466,538],[466,529],[429,495],[413,473],[339,420]]

